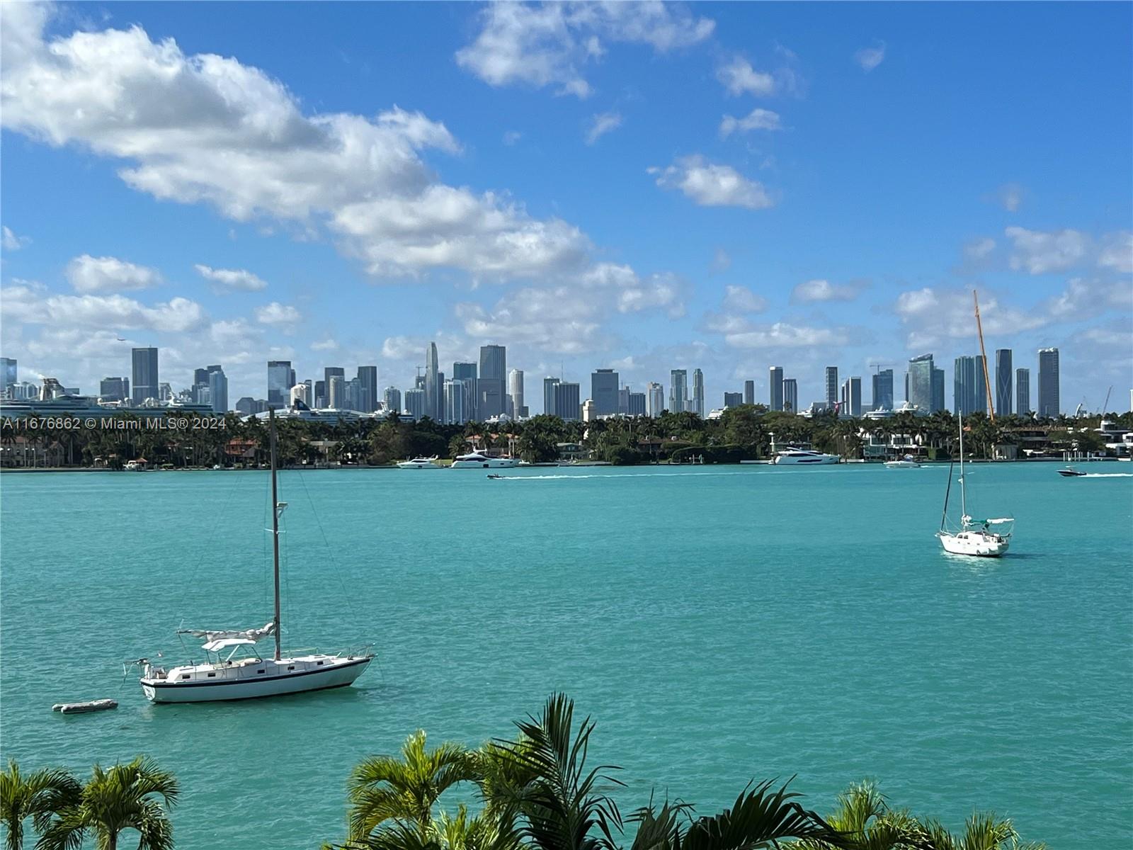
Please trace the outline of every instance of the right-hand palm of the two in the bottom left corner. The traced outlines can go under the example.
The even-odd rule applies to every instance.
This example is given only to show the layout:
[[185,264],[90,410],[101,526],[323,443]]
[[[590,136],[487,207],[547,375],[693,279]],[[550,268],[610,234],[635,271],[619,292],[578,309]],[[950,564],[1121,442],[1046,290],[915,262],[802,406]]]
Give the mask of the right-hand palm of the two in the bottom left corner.
[[69,850],[93,833],[99,848],[116,850],[125,830],[139,834],[138,850],[169,850],[173,831],[165,813],[177,805],[177,777],[138,756],[109,771],[95,765],[78,799],[58,813],[37,848]]

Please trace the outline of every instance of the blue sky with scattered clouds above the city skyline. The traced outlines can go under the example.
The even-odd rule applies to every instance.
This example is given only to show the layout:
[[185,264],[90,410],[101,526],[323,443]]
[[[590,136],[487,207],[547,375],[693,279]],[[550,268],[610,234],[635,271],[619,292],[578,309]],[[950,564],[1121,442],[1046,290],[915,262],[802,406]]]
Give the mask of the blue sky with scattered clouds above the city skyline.
[[232,401],[269,359],[403,389],[427,341],[495,342],[535,409],[611,365],[700,367],[715,407],[932,351],[951,402],[974,287],[989,351],[1060,348],[1064,409],[1133,385],[1127,3],[0,15],[22,380],[96,391],[157,345]]

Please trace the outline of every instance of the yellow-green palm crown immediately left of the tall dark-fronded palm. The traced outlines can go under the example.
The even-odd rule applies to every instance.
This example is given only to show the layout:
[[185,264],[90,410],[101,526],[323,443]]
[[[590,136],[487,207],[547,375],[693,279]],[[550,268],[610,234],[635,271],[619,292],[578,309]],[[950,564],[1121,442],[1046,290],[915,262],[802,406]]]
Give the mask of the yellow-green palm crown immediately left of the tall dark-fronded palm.
[[418,730],[401,746],[401,757],[370,756],[350,775],[350,840],[366,841],[387,821],[411,827],[428,841],[433,806],[446,790],[477,777],[476,757],[459,743],[425,748]]

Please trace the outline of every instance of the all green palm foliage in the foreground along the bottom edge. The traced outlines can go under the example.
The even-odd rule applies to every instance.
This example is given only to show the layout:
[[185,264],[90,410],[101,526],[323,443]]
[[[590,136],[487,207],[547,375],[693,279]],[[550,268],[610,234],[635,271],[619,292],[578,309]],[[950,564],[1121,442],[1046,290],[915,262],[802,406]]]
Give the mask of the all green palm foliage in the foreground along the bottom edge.
[[[347,782],[346,839],[321,850],[1045,850],[1023,843],[1010,819],[971,815],[953,834],[935,818],[889,806],[872,782],[838,794],[826,816],[790,790],[793,777],[750,782],[717,814],[693,804],[658,800],[623,814],[610,796],[624,787],[614,765],[588,764],[590,717],[574,722],[574,703],[548,697],[537,715],[514,723],[518,734],[478,749],[446,742],[429,749],[426,734],[409,736],[395,756],[370,756]],[[479,802],[455,811],[442,797],[457,788]],[[20,850],[25,822],[36,850],[80,848],[93,839],[116,850],[174,847],[169,819],[180,799],[176,776],[151,758],[103,770],[79,782],[63,770],[0,774],[0,823],[7,850]],[[465,793],[467,798],[467,793]],[[316,840],[312,841],[314,850]]]

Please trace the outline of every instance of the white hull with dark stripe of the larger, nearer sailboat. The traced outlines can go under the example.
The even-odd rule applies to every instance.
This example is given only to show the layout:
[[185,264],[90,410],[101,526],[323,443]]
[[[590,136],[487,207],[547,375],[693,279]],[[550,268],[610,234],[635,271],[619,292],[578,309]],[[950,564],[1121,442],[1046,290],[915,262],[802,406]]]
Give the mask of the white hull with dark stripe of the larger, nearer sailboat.
[[214,703],[344,688],[366,672],[372,656],[317,660],[256,660],[252,664],[199,664],[142,678],[152,703]]

